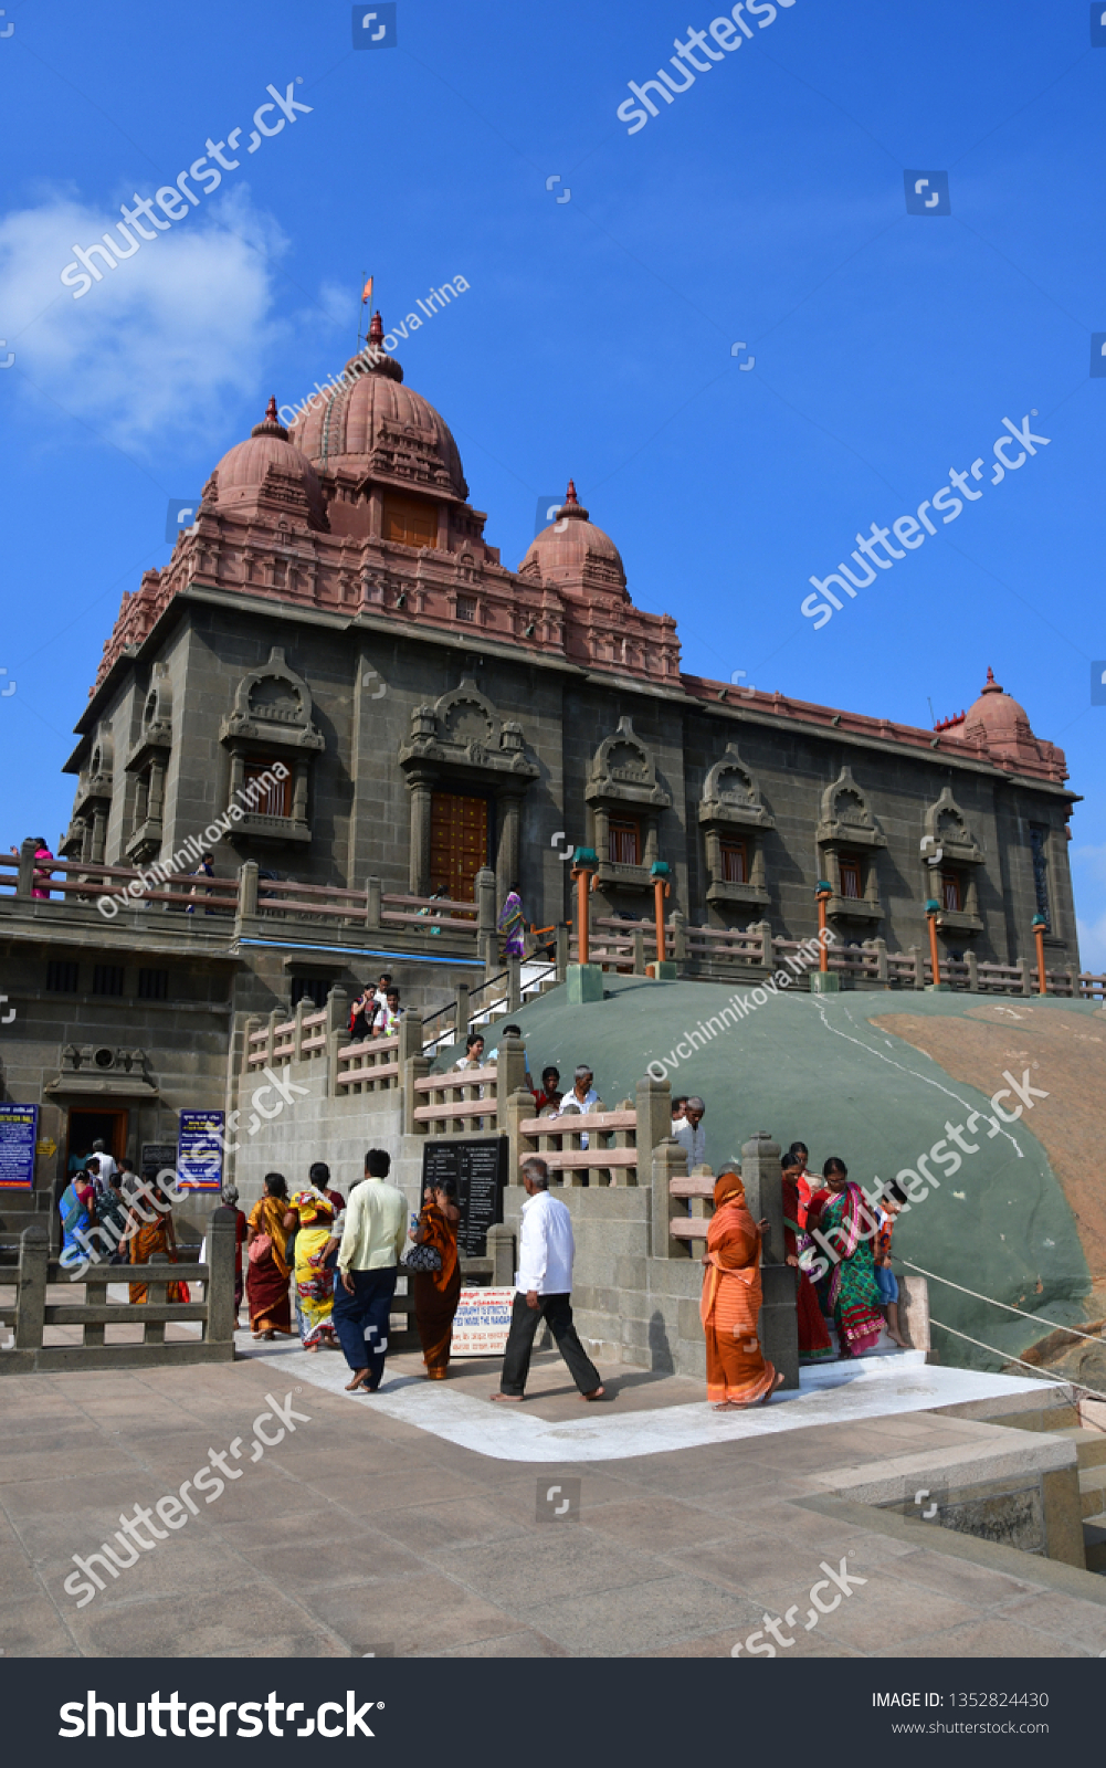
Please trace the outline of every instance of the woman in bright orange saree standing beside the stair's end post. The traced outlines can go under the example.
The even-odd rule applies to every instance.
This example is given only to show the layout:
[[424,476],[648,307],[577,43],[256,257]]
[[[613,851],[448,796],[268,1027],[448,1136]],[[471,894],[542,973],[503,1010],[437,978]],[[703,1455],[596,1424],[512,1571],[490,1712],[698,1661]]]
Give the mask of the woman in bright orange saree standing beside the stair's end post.
[[760,1236],[737,1172],[714,1186],[714,1215],[703,1255],[700,1317],[707,1338],[707,1398],[716,1413],[740,1411],[772,1397],[783,1376],[765,1363],[756,1337],[760,1314]]

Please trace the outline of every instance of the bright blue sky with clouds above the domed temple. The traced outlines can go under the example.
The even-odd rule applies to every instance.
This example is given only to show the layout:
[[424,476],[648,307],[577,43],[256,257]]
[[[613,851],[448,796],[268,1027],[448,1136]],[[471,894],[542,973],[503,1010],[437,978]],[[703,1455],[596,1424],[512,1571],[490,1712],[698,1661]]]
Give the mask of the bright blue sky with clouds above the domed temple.
[[[1106,48],[1085,0],[756,4],[634,134],[627,81],[721,9],[399,0],[398,46],[353,51],[330,0],[7,5],[5,845],[69,819],[58,766],[122,591],[168,562],[168,499],[270,392],[341,370],[362,271],[385,322],[463,276],[398,354],[504,562],[571,474],[691,672],[926,725],[993,665],[1085,794],[1083,962],[1106,969]],[[247,154],[269,85],[311,110]],[[221,187],[74,301],[72,244],[235,126]],[[905,170],[947,171],[952,212],[906,214]],[[1032,410],[1048,446],[991,484],[1002,419]],[[814,631],[809,576],[979,456],[984,495]]]

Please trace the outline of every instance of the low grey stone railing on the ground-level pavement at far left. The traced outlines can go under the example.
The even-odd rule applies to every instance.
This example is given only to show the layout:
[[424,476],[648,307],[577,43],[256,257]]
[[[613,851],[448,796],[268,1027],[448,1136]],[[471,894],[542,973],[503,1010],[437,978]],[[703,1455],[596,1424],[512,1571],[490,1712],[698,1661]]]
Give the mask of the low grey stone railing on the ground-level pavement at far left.
[[[239,1257],[233,1209],[216,1209],[210,1216],[207,1254],[207,1264],[88,1264],[74,1280],[49,1257],[44,1223],[34,1222],[23,1229],[19,1264],[0,1268],[0,1287],[14,1285],[16,1291],[14,1307],[0,1307],[0,1321],[14,1328],[14,1344],[0,1351],[0,1376],[233,1361]],[[110,1284],[129,1282],[145,1284],[148,1299],[108,1301]],[[180,1282],[189,1284],[189,1292],[203,1284],[203,1299],[166,1301],[168,1285]],[[95,1291],[99,1301],[92,1299]],[[200,1330],[196,1337],[166,1342],[164,1330],[173,1321],[194,1322]],[[141,1326],[141,1340],[106,1344],[106,1326]],[[78,1337],[69,1344],[46,1344],[48,1328],[76,1328]]]

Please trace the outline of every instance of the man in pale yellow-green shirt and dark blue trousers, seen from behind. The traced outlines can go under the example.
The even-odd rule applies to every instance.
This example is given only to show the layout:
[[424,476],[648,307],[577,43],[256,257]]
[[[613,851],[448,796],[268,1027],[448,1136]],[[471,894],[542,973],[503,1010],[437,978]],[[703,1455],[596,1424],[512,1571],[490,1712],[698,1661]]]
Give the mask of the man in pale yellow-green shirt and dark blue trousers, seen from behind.
[[392,1156],[371,1147],[364,1179],[350,1192],[337,1248],[334,1330],[353,1379],[346,1393],[376,1393],[389,1347],[389,1314],[406,1236],[406,1197],[385,1185]]

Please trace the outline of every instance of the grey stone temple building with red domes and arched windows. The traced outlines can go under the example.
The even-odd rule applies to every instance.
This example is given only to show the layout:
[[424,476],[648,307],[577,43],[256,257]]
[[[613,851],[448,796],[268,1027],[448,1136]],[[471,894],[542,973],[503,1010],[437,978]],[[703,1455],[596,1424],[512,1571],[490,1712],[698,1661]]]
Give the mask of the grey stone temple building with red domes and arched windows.
[[[516,569],[486,520],[449,426],[376,348],[292,428],[270,400],[168,566],[124,596],[58,854],[125,886],[223,817],[216,875],[247,882],[237,918],[194,898],[108,921],[72,880],[35,900],[30,873],[0,898],[21,1015],[5,1096],[53,1105],[58,1162],[74,1110],[115,1112],[115,1146],[138,1155],[175,1140],[182,1105],[223,1105],[249,1015],[383,967],[429,1010],[451,941],[424,941],[415,974],[419,911],[389,928],[380,895],[472,902],[491,868],[496,909],[518,884],[526,921],[553,928],[574,845],[597,854],[599,919],[647,919],[664,861],[689,928],[807,937],[825,880],[843,946],[924,946],[936,898],[943,956],[1032,962],[1042,916],[1049,967],[1078,971],[1076,794],[989,670],[936,732],[687,675],[675,621],[634,606],[571,481]],[[274,919],[290,880],[320,893],[314,919]],[[367,891],[371,937],[341,891]]]

